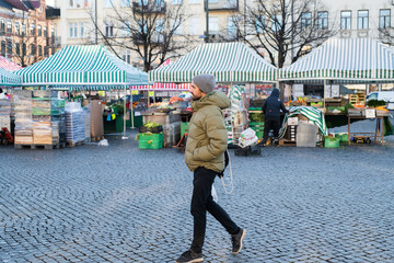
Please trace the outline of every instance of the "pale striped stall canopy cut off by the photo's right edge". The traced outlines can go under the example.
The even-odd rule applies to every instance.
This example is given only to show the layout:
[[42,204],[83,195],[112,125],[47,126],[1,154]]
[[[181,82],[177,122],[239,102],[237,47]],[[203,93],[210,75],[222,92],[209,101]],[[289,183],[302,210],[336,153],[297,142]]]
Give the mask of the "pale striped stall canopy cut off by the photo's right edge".
[[394,82],[394,49],[371,38],[332,38],[291,66],[279,80]]

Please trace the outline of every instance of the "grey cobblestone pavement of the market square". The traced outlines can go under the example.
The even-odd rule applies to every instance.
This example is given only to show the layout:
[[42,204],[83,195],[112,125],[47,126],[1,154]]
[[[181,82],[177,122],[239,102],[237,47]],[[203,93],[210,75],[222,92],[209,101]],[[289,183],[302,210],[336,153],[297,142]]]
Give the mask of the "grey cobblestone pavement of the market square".
[[[174,262],[190,244],[192,173],[181,151],[139,150],[135,135],[0,147],[0,262]],[[394,262],[394,140],[230,152],[234,192],[215,185],[247,236],[232,255],[208,216],[205,262]]]

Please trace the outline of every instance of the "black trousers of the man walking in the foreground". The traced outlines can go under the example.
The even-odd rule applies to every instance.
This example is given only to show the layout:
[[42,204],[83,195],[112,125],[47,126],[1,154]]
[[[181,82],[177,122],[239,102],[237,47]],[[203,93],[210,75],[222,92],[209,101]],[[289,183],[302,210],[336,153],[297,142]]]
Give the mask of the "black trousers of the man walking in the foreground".
[[194,218],[192,250],[196,253],[201,253],[202,251],[207,226],[207,211],[209,211],[230,235],[235,235],[240,231],[236,224],[231,220],[225,210],[212,198],[211,190],[217,174],[217,172],[202,167],[194,171],[190,213]]

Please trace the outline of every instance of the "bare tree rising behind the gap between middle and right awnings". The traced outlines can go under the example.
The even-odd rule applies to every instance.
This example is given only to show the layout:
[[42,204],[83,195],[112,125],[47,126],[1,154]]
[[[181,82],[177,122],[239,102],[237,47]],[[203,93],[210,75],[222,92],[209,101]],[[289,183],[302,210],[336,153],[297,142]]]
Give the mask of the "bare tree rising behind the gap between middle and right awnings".
[[235,23],[239,36],[279,68],[336,34],[320,0],[256,0]]

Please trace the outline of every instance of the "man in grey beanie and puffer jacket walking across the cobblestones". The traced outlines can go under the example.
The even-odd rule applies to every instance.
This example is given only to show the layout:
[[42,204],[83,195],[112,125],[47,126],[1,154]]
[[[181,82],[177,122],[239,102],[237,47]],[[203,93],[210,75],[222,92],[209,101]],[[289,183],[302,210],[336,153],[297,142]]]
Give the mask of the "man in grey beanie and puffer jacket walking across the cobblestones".
[[194,77],[190,88],[193,117],[189,123],[185,162],[194,172],[190,208],[194,233],[190,249],[183,253],[176,263],[204,261],[207,211],[231,235],[233,254],[241,251],[246,235],[246,230],[237,227],[211,195],[216,175],[224,170],[224,151],[228,147],[228,132],[221,110],[230,106],[225,94],[213,91],[215,85],[212,75],[198,75]]

